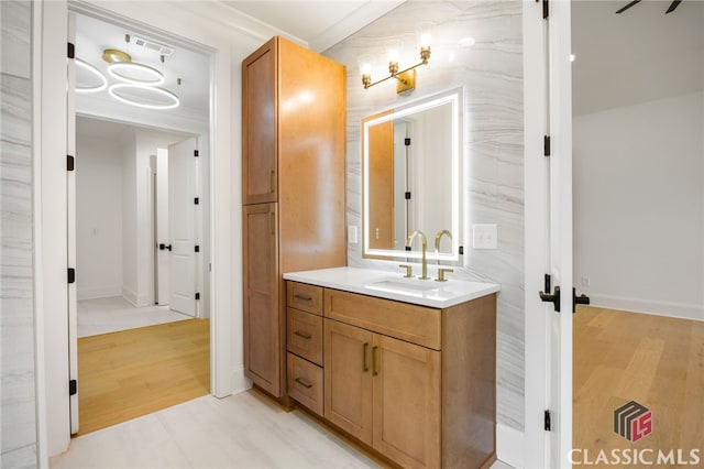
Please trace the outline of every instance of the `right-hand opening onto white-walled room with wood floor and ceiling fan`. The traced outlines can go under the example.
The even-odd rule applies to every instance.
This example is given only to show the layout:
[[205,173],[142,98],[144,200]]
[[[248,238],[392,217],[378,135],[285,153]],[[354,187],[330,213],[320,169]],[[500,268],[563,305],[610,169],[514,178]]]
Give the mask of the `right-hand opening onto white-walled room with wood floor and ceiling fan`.
[[704,4],[626,3],[572,2],[572,459],[697,465]]

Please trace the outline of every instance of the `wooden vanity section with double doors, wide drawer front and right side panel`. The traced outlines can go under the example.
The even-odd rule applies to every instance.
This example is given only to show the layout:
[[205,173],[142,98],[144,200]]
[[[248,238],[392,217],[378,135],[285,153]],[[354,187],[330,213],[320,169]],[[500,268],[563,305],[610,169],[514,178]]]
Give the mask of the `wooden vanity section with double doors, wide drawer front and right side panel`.
[[437,309],[324,288],[324,413],[403,467],[495,460],[496,295]]

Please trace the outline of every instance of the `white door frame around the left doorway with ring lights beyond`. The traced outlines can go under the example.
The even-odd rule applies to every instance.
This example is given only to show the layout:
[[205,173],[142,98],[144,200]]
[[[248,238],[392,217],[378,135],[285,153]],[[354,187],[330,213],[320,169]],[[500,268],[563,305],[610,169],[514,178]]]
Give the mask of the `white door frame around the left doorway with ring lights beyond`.
[[[68,396],[68,324],[66,288],[66,43],[68,37],[68,3],[51,1],[34,3],[33,54],[35,69],[35,263],[37,341],[37,429],[38,441],[45,441],[38,450],[40,466],[48,466],[48,456],[68,448],[69,396]],[[238,299],[242,297],[241,285],[234,265],[241,264],[241,250],[237,249],[241,233],[232,228],[238,217],[241,195],[237,190],[240,170],[239,150],[232,141],[239,138],[233,132],[231,116],[233,52],[232,37],[206,28],[186,11],[180,14],[160,14],[158,6],[139,2],[110,4],[72,3],[70,10],[90,12],[99,17],[144,29],[167,32],[180,44],[189,44],[210,55],[211,109],[209,123],[210,149],[210,252],[211,252],[211,393],[224,397],[233,391],[248,388],[248,382],[233,370],[241,357],[233,349],[241,337],[233,334]],[[166,18],[168,17],[168,18]],[[182,21],[188,18],[189,21]],[[139,19],[139,20],[138,20]],[[190,37],[190,39],[187,39]],[[246,46],[246,45],[245,45]],[[224,106],[215,106],[224,102]],[[233,102],[235,107],[239,100]],[[237,141],[237,140],[234,140]],[[233,157],[234,156],[234,157]],[[234,208],[232,208],[234,207]],[[240,242],[241,244],[241,242]],[[216,262],[221,259],[222,262]],[[50,307],[51,305],[51,307]],[[237,310],[235,310],[237,309]],[[241,329],[241,327],[240,327]],[[79,382],[80,385],[80,382]]]

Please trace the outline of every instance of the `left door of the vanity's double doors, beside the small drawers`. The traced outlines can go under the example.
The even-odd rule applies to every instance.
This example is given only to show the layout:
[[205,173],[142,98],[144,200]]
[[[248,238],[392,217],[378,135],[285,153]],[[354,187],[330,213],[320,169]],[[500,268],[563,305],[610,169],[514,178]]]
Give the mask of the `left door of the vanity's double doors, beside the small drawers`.
[[372,332],[324,319],[324,416],[372,444]]

